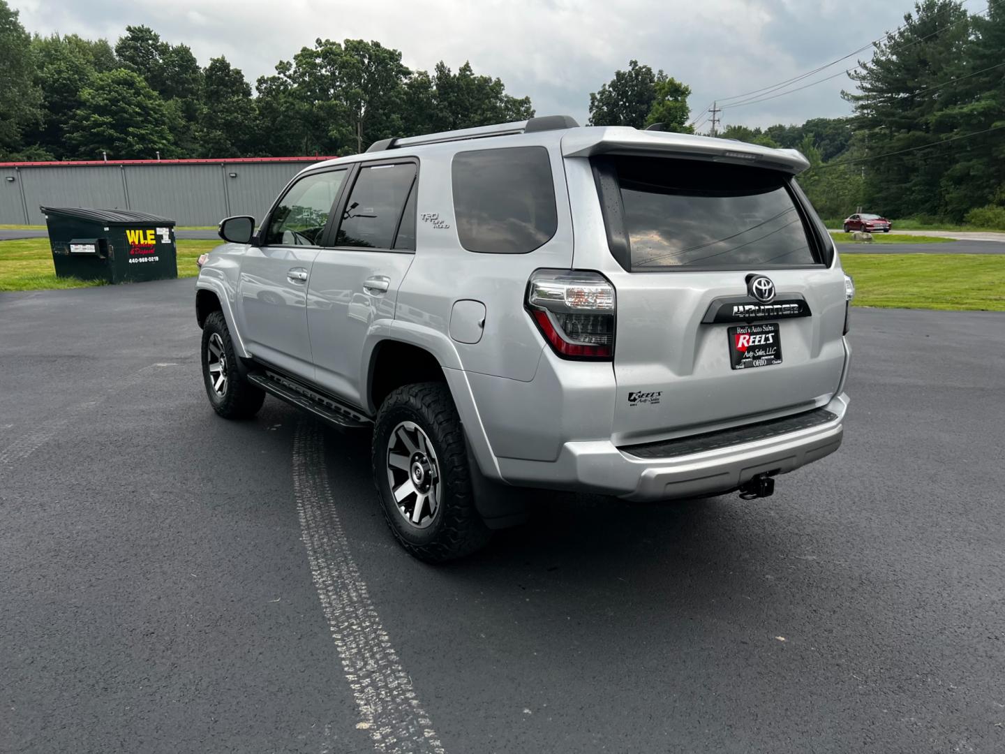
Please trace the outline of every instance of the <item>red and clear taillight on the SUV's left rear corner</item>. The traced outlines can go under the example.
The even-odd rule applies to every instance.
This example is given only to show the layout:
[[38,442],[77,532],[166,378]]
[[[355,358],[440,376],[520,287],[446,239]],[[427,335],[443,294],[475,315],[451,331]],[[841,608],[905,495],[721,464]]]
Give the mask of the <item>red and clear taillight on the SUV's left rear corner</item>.
[[527,287],[527,308],[559,356],[614,356],[614,287],[599,272],[539,269]]

